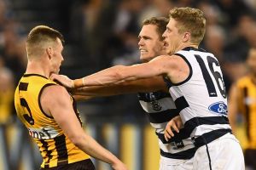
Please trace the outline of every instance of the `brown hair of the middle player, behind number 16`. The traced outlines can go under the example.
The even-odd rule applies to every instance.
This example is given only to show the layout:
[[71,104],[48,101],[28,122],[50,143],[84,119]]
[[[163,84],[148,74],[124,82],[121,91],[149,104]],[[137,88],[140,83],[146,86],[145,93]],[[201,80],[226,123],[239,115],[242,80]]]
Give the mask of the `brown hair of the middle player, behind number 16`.
[[157,33],[160,37],[160,40],[163,40],[163,33],[166,31],[166,26],[169,20],[166,17],[152,17],[143,21],[143,26],[154,25],[157,27]]

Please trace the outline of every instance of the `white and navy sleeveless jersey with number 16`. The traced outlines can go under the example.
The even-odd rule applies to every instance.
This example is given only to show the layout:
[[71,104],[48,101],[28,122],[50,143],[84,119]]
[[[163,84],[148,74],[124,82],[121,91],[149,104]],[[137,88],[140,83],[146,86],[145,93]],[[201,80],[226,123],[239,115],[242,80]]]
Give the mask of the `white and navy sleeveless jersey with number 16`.
[[172,83],[166,78],[169,92],[180,110],[184,128],[195,139],[195,146],[208,144],[231,133],[227,117],[227,96],[218,59],[196,48],[176,53],[189,65],[189,77]]

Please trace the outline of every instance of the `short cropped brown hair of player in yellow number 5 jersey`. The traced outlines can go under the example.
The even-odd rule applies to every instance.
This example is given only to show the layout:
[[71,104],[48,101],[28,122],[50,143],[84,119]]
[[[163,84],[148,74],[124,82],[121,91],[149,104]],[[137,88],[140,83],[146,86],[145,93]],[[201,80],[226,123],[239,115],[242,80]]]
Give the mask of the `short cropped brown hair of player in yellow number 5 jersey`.
[[27,55],[40,55],[44,50],[46,44],[56,42],[57,38],[64,43],[64,37],[61,32],[56,31],[49,26],[36,26],[32,28],[26,39]]

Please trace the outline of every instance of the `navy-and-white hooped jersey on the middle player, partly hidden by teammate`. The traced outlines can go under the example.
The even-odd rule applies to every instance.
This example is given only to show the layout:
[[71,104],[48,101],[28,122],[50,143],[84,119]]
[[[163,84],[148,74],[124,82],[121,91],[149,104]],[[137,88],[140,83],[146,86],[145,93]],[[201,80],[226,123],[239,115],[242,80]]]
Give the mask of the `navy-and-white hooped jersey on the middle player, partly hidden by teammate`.
[[195,155],[195,145],[189,138],[189,133],[181,129],[169,141],[164,137],[167,122],[179,113],[171,95],[161,91],[139,93],[138,99],[159,138],[160,155],[172,159],[192,158]]

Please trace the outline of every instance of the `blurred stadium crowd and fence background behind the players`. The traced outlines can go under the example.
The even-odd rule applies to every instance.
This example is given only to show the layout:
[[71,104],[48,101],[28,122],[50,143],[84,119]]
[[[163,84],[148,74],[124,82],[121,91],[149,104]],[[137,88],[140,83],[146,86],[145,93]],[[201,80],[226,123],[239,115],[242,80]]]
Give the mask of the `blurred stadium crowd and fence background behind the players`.
[[[255,0],[0,0],[0,169],[34,170],[41,163],[13,104],[14,88],[26,68],[26,35],[33,26],[47,25],[63,33],[61,74],[77,78],[111,65],[139,62],[142,21],[186,6],[201,8],[207,16],[201,48],[218,57],[228,91],[247,72],[248,48],[256,48]],[[79,110],[87,131],[129,169],[159,168],[157,139],[136,94],[91,99],[79,103]],[[242,132],[241,128],[244,145]],[[96,169],[110,169],[95,163]]]

